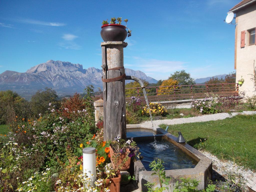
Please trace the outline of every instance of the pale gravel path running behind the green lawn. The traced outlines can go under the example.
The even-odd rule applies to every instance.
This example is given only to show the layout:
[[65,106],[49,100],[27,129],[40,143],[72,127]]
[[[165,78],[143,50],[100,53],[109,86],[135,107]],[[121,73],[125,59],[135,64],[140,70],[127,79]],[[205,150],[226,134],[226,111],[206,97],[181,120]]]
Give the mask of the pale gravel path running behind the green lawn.
[[[231,118],[238,114],[242,115],[253,115],[256,114],[256,111],[243,111],[241,113],[233,112],[229,113],[216,113],[210,115],[202,115],[197,117],[189,117],[189,118],[178,118],[178,119],[164,119],[164,120],[154,120],[153,125],[158,126],[161,124],[174,125],[174,124],[183,124],[183,123],[194,123],[194,122],[205,122],[205,121],[216,121],[222,120],[226,118]],[[151,121],[145,121],[142,125],[152,125]]]

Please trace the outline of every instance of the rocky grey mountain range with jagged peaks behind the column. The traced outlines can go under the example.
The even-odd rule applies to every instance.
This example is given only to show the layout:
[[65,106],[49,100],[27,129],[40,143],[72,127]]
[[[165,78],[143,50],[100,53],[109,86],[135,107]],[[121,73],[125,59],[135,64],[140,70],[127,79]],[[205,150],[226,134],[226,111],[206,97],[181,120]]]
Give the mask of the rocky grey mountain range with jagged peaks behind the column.
[[[146,76],[142,71],[125,69],[126,75],[136,76],[149,83],[157,80]],[[36,65],[25,73],[5,71],[0,74],[0,90],[13,90],[22,97],[29,99],[37,90],[46,87],[53,88],[59,95],[83,93],[88,85],[93,85],[95,91],[102,88],[102,70],[94,67],[83,69],[80,64],[49,60]]]

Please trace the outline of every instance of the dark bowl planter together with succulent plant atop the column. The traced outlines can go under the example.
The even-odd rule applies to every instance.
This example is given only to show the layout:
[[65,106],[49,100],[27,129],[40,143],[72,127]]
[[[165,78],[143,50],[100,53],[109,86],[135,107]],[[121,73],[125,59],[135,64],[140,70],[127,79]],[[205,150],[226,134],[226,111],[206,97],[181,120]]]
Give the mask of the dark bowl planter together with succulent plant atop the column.
[[[116,20],[118,23],[116,23]],[[103,20],[102,22],[102,26],[101,26],[101,31],[100,31],[100,35],[102,37],[102,39],[104,41],[124,41],[127,37],[130,37],[131,34],[131,30],[127,27],[127,22],[128,19],[124,19],[123,20],[126,25],[121,25],[122,23],[122,17],[118,17],[118,18],[111,18],[110,24],[107,20]],[[128,31],[126,31],[126,28],[128,29]]]

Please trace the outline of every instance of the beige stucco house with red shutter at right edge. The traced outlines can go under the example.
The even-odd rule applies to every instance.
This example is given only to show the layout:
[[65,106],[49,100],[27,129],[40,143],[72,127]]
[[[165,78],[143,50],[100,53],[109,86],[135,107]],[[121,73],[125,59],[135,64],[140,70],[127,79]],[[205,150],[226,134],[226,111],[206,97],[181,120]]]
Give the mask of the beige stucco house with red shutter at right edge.
[[[243,4],[245,3],[245,4]],[[247,5],[246,5],[247,3]],[[249,4],[248,4],[249,3]],[[256,29],[256,1],[244,0],[230,9],[230,12],[236,14],[236,29],[235,29],[235,66],[236,82],[244,79],[244,83],[239,87],[240,91],[245,92],[246,97],[251,97],[256,94],[256,87],[251,80],[254,67],[256,67],[256,42],[249,45],[249,31]],[[241,33],[245,32],[244,47],[241,47]]]

